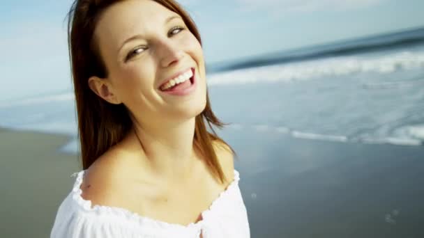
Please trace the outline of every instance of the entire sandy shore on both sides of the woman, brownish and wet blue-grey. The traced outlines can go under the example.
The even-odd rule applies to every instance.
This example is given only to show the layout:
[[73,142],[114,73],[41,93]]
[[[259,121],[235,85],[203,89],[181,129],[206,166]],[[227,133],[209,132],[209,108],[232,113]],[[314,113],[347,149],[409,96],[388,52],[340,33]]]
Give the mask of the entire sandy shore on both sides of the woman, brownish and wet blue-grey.
[[[229,127],[252,237],[424,237],[424,146]],[[0,237],[48,237],[78,170],[68,136],[0,131]]]

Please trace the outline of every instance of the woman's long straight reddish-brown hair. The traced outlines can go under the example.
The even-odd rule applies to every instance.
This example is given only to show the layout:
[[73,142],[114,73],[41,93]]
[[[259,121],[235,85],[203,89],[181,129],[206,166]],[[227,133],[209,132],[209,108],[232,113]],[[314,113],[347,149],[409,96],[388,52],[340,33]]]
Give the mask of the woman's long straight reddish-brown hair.
[[[103,11],[119,1],[125,0],[75,0],[68,13],[68,46],[83,169],[89,168],[100,155],[121,141],[132,129],[132,120],[126,106],[106,102],[93,93],[88,83],[91,76],[105,78],[108,75],[93,33]],[[179,6],[179,3],[174,0],[153,1],[180,15],[188,29],[202,45],[195,23]],[[205,121],[213,133],[207,131]],[[206,90],[206,107],[195,118],[193,146],[195,151],[204,157],[211,172],[219,178],[220,182],[224,183],[227,178],[222,172],[213,141],[224,145],[224,148],[227,146],[225,149],[229,148],[233,154],[236,153],[215,133],[211,124],[219,129],[226,125],[214,115]]]

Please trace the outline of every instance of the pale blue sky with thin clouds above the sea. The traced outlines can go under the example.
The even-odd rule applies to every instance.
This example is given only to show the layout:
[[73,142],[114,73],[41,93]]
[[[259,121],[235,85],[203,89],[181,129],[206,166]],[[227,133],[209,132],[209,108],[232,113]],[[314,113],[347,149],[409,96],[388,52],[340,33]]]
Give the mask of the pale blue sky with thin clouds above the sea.
[[[423,0],[180,0],[206,63],[424,26]],[[0,102],[70,91],[70,0],[0,8]]]

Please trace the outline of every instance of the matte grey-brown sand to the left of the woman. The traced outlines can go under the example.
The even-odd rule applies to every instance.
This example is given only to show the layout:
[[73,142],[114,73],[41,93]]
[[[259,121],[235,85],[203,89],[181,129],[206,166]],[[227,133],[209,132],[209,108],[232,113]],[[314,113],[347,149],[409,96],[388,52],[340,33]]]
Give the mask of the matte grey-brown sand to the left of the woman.
[[0,237],[49,237],[56,210],[79,170],[57,152],[69,136],[0,129]]

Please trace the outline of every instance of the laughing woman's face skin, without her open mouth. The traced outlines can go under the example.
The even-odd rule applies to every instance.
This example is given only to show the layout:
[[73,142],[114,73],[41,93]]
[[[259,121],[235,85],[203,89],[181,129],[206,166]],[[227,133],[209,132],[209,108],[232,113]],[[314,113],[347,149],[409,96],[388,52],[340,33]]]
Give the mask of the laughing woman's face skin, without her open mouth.
[[[107,79],[98,82],[106,82],[116,102],[137,118],[163,122],[203,111],[203,51],[179,15],[151,0],[121,1],[100,16],[94,34],[108,72]],[[167,79],[190,68],[196,81],[191,93],[172,95],[160,89]]]

